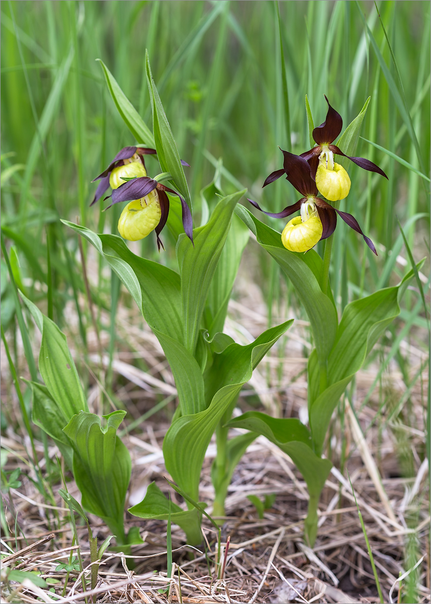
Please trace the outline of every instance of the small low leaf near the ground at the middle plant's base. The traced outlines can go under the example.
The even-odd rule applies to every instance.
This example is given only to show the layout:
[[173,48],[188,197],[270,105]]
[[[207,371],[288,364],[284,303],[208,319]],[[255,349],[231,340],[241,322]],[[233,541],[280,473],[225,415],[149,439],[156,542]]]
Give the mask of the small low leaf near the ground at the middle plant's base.
[[153,520],[167,520],[170,516],[171,522],[179,525],[184,530],[188,543],[196,545],[202,541],[201,515],[198,510],[196,508],[182,510],[175,503],[168,500],[154,482],[148,485],[141,503],[130,507],[129,512],[133,516],[138,516],[138,518]]

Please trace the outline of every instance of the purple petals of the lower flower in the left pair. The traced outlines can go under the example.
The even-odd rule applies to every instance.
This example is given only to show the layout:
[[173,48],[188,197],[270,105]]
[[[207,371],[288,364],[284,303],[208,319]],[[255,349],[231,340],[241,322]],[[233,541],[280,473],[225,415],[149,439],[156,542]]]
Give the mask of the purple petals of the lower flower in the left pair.
[[[123,185],[114,189],[112,194],[110,195],[111,204],[106,208],[106,210],[112,207],[114,204],[120,204],[124,201],[135,201],[136,199],[144,198],[148,193],[157,189],[161,210],[161,218],[160,222],[155,228],[155,233],[157,236],[157,246],[160,251],[160,248],[164,248],[164,245],[160,239],[160,233],[162,232],[166,221],[168,219],[169,214],[169,198],[166,192],[171,193],[173,195],[177,195],[181,202],[182,208],[182,223],[184,226],[185,234],[193,243],[193,218],[191,216],[190,208],[188,207],[185,200],[180,196],[177,191],[169,187],[165,187],[160,182],[150,178],[149,176],[140,176],[139,178],[134,178],[130,181],[124,182]],[[109,199],[109,198],[106,198]]]

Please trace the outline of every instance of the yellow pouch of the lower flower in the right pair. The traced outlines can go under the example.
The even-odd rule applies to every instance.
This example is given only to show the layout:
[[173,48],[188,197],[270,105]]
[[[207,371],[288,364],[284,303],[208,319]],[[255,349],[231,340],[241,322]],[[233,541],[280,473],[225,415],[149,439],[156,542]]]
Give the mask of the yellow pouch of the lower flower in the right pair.
[[289,220],[281,233],[281,243],[290,252],[307,252],[321,239],[322,221],[311,199],[301,204],[301,216]]

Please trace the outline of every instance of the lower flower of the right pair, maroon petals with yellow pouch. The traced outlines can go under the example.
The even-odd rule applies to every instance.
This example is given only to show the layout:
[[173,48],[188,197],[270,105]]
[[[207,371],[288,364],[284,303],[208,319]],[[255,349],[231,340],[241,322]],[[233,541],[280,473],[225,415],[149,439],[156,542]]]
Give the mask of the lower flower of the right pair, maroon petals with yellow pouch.
[[[283,233],[281,234],[281,241],[285,248],[291,252],[306,252],[308,249],[313,248],[318,241],[321,239],[327,239],[330,237],[337,225],[337,214],[348,224],[354,231],[360,233],[365,239],[366,245],[369,249],[377,255],[374,244],[371,239],[366,237],[356,218],[346,212],[342,212],[333,208],[327,201],[318,197],[318,187],[313,179],[313,164],[316,162],[316,157],[311,159],[311,162],[307,162],[300,155],[293,155],[288,151],[283,151],[284,164],[283,174],[287,174],[287,180],[292,184],[299,193],[302,194],[302,198],[296,202],[296,204],[289,205],[284,208],[281,212],[276,214],[263,211],[256,202],[249,199],[248,201],[254,205],[255,208],[273,218],[286,218],[296,211],[301,212],[301,216],[297,216],[290,220],[284,227]],[[311,165],[310,165],[311,164]],[[273,182],[268,176],[264,182],[264,187]],[[281,175],[280,175],[281,176]],[[279,178],[279,176],[277,176]]]

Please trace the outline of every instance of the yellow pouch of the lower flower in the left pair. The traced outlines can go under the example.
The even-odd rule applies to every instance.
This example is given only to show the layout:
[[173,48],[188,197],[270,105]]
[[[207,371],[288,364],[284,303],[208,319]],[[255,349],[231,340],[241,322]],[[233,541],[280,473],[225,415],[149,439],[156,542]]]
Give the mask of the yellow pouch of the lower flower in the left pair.
[[161,216],[159,194],[155,189],[126,205],[118,220],[118,232],[124,239],[139,241],[155,230]]

